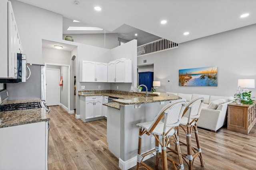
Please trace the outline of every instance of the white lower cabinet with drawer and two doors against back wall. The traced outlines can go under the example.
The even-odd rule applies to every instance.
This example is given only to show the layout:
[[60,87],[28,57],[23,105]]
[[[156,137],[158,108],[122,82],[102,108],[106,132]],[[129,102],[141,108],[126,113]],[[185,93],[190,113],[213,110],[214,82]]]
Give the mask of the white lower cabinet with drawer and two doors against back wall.
[[80,96],[80,119],[84,122],[102,117],[102,96]]

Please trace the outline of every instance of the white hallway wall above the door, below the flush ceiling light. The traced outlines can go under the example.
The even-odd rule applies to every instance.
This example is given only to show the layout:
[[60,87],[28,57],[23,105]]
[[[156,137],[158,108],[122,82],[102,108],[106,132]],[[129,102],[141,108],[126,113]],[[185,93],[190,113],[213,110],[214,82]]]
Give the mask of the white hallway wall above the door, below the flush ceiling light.
[[70,51],[42,48],[42,63],[71,64]]

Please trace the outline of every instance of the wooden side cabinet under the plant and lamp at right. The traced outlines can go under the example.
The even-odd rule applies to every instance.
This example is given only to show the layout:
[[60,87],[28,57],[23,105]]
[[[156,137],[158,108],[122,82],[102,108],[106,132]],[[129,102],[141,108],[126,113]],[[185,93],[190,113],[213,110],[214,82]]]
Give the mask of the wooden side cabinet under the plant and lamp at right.
[[256,123],[256,103],[228,104],[228,129],[248,134]]

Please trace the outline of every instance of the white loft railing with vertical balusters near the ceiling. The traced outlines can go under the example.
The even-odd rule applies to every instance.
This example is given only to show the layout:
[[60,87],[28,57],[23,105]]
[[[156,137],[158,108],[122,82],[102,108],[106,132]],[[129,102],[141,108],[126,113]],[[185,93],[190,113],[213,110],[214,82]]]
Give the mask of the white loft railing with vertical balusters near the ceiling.
[[174,43],[167,39],[158,39],[156,41],[152,41],[150,43],[140,45],[137,47],[137,57],[152,53],[157,53],[160,51],[165,51],[173,48],[177,48],[178,43]]

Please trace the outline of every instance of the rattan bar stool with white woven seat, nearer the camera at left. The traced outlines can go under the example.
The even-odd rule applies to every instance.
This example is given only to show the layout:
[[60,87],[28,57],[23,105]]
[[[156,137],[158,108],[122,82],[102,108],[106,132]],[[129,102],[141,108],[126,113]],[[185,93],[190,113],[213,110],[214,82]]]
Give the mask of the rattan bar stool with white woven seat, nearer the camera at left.
[[[153,154],[156,151],[156,166],[158,165],[159,154],[162,157],[162,166],[164,170],[168,169],[167,166],[167,155],[166,155],[166,143],[168,143],[170,137],[174,137],[176,142],[176,148],[178,150],[178,160],[179,162],[172,161],[174,169],[178,167],[180,170],[184,169],[182,156],[180,152],[180,145],[178,141],[177,130],[180,124],[180,119],[182,117],[182,113],[186,106],[186,100],[175,100],[170,104],[164,106],[156,116],[153,121],[148,121],[144,123],[138,123],[137,126],[140,127],[139,130],[139,141],[138,141],[138,155],[137,155],[137,166],[136,170],[139,168],[146,168],[148,170],[152,170],[147,164],[142,162],[144,156],[148,154]],[[163,121],[161,121],[161,119]],[[154,135],[156,138],[156,148],[152,149],[144,154],[141,154],[141,143],[142,143],[142,135]],[[162,143],[159,140],[159,136],[162,136]],[[162,153],[159,152],[159,144],[162,148]],[[140,166],[142,165],[142,166]]]

